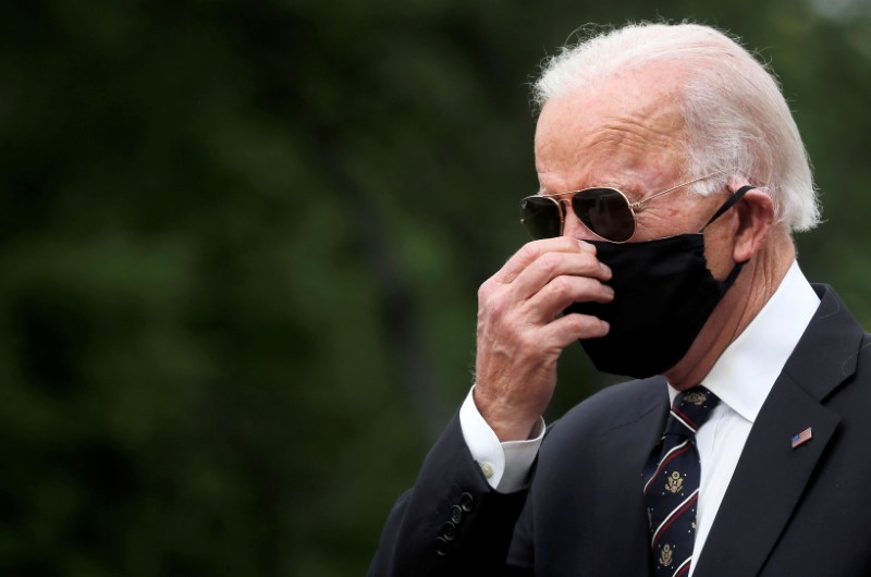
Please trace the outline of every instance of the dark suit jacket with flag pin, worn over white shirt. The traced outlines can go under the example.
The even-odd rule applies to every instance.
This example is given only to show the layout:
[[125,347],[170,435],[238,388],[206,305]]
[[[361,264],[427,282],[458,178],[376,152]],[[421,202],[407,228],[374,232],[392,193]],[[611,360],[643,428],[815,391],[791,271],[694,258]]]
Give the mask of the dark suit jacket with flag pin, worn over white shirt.
[[[696,577],[871,575],[871,335],[830,287],[814,290],[820,307],[750,431]],[[549,430],[514,494],[490,489],[455,417],[369,575],[652,575],[641,469],[667,405],[662,378],[593,395]]]

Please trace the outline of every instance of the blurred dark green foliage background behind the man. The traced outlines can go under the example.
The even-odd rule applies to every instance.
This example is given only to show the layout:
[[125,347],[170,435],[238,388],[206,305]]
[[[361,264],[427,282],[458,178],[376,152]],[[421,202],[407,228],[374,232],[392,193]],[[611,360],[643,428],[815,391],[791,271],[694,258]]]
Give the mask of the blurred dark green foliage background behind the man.
[[657,17],[771,61],[871,326],[867,0],[2,3],[0,574],[364,574],[526,241],[528,83]]

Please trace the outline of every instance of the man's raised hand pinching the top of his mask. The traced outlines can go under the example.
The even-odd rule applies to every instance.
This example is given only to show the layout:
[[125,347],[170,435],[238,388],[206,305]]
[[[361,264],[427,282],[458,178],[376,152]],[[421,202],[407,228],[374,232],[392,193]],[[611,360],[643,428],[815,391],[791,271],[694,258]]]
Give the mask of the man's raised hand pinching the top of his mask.
[[526,244],[481,285],[475,404],[500,441],[527,439],[553,396],[563,348],[608,333],[596,317],[559,315],[575,302],[610,302],[609,279],[594,246],[560,236]]

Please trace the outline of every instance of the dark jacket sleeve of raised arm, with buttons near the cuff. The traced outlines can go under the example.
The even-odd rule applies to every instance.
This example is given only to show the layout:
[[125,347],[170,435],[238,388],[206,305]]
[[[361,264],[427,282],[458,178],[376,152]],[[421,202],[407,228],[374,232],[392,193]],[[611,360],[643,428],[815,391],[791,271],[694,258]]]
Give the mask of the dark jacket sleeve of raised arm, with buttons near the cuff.
[[532,575],[505,566],[527,494],[528,488],[503,494],[488,484],[454,416],[415,487],[393,506],[369,577]]

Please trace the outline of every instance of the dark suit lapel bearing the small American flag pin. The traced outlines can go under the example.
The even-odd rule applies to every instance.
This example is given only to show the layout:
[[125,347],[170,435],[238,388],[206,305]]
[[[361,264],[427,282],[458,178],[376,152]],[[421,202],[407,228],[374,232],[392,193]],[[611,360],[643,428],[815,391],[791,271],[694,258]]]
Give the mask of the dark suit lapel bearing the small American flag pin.
[[[834,292],[822,302],[762,405],[695,570],[758,575],[841,417],[822,402],[856,370],[862,330]],[[810,427],[812,440],[790,440]]]

